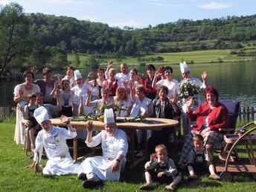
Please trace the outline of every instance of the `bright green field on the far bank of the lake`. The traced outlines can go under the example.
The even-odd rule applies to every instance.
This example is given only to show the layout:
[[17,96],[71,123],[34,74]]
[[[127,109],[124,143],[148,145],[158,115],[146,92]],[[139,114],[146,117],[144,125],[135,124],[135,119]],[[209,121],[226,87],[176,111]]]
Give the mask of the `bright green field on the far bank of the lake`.
[[[238,56],[238,54],[231,54],[231,52],[240,53],[243,51],[245,54],[252,54],[250,56]],[[241,62],[256,60],[256,46],[243,45],[241,49],[214,49],[205,51],[187,51],[187,52],[177,52],[177,53],[155,53],[155,54],[141,54],[135,57],[126,56],[121,59],[115,58],[103,58],[98,59],[101,66],[106,66],[109,60],[114,61],[114,65],[120,65],[121,63],[127,63],[128,65],[141,65],[143,64],[153,64],[153,65],[172,65],[178,64],[183,60],[186,63],[222,63],[222,62]],[[79,53],[80,66],[78,68],[83,68],[84,64],[90,54]],[[92,54],[93,55],[93,54]],[[150,57],[164,57],[162,61],[147,61]],[[145,59],[145,61],[138,61],[138,57]],[[74,55],[68,54],[68,61],[74,63]],[[142,64],[142,65],[143,65]],[[77,66],[76,66],[77,67]]]

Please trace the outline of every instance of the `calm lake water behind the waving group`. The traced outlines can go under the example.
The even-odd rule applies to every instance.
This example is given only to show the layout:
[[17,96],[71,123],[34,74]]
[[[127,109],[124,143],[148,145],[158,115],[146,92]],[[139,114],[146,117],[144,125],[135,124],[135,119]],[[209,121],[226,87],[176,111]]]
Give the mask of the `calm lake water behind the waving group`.
[[[173,78],[180,81],[182,76],[179,65],[171,65],[173,68]],[[207,81],[210,86],[214,86],[219,92],[220,100],[241,100],[246,105],[256,107],[256,61],[241,63],[208,63],[188,65],[191,70],[191,77],[197,77],[200,80],[202,71],[208,72]],[[132,67],[129,67],[132,68]],[[117,68],[119,69],[119,68]],[[147,75],[145,67],[137,67],[141,77]],[[65,74],[65,71],[54,71]],[[86,70],[80,70],[81,74],[88,74]],[[56,77],[54,77],[56,78]],[[16,106],[13,102],[13,89],[22,82],[1,82],[0,106]]]

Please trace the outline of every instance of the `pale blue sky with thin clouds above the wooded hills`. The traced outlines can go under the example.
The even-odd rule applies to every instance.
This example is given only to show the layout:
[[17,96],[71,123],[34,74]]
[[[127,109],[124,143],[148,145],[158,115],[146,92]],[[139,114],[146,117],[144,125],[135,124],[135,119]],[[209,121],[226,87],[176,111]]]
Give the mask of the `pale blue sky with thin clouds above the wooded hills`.
[[[110,27],[147,28],[179,19],[220,19],[251,16],[255,0],[13,0],[25,13],[71,16]],[[0,0],[1,5],[11,0]]]

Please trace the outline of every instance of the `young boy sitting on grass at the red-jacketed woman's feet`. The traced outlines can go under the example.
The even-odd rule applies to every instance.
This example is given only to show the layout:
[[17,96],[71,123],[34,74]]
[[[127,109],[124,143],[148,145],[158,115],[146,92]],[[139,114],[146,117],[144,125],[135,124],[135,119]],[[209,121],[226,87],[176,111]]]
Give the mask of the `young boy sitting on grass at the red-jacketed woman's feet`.
[[212,163],[213,156],[211,155],[211,145],[206,144],[203,146],[204,141],[202,135],[194,135],[193,136],[193,149],[191,150],[189,161],[188,161],[188,171],[190,176],[188,179],[197,179],[194,169],[199,169],[202,167],[209,168],[211,175],[208,177],[209,179],[220,179],[215,173],[215,167]]

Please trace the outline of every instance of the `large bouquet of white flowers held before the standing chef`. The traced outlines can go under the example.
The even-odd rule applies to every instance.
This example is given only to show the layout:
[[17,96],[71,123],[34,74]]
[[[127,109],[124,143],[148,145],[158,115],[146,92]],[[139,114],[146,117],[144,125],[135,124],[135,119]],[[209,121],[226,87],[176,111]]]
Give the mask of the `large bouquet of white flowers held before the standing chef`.
[[199,86],[194,80],[183,80],[179,83],[179,97],[187,99],[190,96],[197,97],[200,92]]

